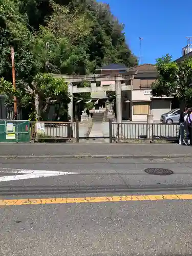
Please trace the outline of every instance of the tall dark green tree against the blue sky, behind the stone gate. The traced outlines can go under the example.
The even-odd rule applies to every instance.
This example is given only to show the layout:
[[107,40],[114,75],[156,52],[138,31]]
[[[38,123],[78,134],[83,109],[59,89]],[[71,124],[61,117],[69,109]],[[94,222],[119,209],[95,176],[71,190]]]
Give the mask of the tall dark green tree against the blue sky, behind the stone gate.
[[96,59],[97,67],[109,63],[124,63],[127,67],[138,65],[137,58],[131,53],[123,33],[124,25],[111,13],[108,4],[87,0],[80,5],[93,20],[90,58]]

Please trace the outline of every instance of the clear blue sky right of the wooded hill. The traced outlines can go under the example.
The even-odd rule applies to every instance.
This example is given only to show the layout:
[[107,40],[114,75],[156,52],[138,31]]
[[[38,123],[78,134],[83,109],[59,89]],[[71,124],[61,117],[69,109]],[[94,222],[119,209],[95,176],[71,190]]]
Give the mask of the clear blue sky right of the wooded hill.
[[[102,0],[100,0],[102,1]],[[186,36],[192,36],[190,2],[180,0],[104,0],[112,13],[125,25],[127,44],[142,63],[169,53],[173,60],[181,56],[187,45]]]

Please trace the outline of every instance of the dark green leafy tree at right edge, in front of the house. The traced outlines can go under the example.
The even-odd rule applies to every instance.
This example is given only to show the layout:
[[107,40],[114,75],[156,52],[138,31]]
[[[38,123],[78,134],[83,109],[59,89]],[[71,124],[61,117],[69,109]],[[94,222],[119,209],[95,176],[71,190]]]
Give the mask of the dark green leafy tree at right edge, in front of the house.
[[166,54],[157,59],[156,67],[158,79],[152,87],[153,96],[174,95],[183,108],[192,99],[192,58],[177,63]]

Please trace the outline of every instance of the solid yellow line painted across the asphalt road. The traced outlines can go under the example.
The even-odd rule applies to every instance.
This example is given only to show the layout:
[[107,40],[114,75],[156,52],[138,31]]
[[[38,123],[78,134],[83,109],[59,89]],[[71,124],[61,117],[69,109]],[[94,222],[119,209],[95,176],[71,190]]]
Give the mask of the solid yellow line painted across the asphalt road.
[[143,195],[143,196],[112,196],[112,197],[79,197],[79,198],[42,198],[42,199],[5,199],[0,206],[28,204],[66,204],[66,203],[102,203],[125,201],[158,201],[158,200],[191,200],[192,194],[181,195]]

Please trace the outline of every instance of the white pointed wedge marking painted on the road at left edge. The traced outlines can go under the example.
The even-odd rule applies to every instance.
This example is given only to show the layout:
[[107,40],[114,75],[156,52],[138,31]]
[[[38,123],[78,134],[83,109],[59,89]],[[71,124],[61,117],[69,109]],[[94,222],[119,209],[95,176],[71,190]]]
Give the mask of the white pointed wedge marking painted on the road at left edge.
[[[43,177],[51,177],[51,176],[59,176],[59,175],[78,174],[78,173],[69,173],[69,172],[58,172],[56,170],[28,170],[28,169],[12,169],[12,168],[0,168],[0,173],[16,174],[12,176],[2,176],[0,177],[0,182],[11,181],[11,180],[25,180],[25,179],[32,179],[32,178],[43,178]],[[19,174],[22,174],[22,175],[19,175]]]

